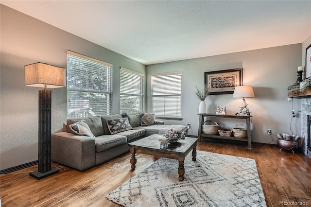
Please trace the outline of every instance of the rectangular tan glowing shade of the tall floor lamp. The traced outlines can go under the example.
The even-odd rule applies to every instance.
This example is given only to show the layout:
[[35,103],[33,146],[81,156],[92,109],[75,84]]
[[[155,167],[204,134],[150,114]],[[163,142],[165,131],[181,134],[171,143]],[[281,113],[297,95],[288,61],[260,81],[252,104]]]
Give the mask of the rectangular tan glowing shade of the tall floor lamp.
[[44,63],[34,63],[25,66],[25,86],[57,88],[66,86],[64,68]]

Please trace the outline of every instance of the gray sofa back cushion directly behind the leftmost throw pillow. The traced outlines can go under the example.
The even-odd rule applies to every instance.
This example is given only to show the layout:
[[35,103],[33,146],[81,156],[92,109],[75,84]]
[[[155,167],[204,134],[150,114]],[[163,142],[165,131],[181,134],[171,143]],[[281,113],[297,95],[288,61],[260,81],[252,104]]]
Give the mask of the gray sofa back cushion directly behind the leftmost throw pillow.
[[[73,124],[75,122],[84,120],[87,125],[89,126],[91,132],[97,137],[104,135],[104,128],[101,121],[101,117],[85,117],[85,118],[73,118],[67,120],[67,131],[70,133],[73,133],[71,129],[69,128],[70,124]],[[74,134],[74,133],[73,133]]]

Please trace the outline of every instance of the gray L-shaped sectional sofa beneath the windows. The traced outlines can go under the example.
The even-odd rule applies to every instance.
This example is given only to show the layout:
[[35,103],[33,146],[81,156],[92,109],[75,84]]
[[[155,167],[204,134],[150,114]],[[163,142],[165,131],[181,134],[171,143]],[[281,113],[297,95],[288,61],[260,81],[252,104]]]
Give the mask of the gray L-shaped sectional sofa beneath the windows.
[[[155,121],[141,125],[142,113],[115,114],[102,117],[68,119],[62,130],[52,134],[52,161],[83,171],[129,152],[128,143],[170,128],[186,131],[182,125],[165,125]],[[107,120],[127,118],[132,129],[111,134]],[[75,134],[69,125],[84,120],[95,138]]]

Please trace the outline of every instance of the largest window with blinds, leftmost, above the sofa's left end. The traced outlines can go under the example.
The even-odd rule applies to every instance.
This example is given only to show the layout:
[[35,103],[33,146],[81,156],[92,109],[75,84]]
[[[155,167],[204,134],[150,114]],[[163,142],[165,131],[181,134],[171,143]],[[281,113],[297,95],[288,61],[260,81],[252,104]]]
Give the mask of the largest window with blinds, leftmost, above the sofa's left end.
[[67,51],[67,117],[111,114],[112,65]]

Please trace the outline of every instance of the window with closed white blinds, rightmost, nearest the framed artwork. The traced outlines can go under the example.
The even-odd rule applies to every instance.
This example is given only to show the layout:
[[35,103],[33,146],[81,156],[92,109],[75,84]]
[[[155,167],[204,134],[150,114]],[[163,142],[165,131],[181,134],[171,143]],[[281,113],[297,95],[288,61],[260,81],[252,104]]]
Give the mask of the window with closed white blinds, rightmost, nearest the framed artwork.
[[181,119],[181,72],[150,75],[150,89],[156,117]]

